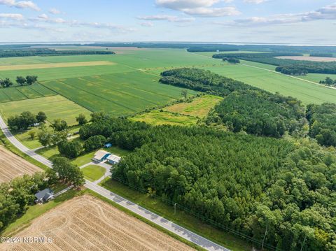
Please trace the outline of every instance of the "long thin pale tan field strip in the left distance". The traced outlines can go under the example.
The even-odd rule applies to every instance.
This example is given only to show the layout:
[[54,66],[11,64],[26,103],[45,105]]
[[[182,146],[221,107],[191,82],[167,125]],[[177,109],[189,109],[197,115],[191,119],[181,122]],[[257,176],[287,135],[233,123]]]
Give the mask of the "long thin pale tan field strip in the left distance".
[[104,66],[113,64],[116,63],[109,61],[92,61],[92,62],[68,62],[68,63],[48,63],[48,64],[17,64],[17,65],[0,66],[0,71],[66,68],[66,67],[78,67],[78,66]]

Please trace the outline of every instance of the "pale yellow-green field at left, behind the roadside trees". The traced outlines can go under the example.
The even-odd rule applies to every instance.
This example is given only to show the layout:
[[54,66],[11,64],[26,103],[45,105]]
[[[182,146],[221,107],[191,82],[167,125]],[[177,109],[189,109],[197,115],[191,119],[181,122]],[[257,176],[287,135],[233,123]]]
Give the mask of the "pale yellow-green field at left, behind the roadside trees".
[[5,120],[12,115],[18,115],[24,111],[30,111],[34,114],[43,111],[47,115],[49,122],[55,119],[62,119],[69,125],[77,124],[76,116],[78,114],[83,113],[89,117],[91,113],[90,110],[59,95],[0,103],[0,113]]

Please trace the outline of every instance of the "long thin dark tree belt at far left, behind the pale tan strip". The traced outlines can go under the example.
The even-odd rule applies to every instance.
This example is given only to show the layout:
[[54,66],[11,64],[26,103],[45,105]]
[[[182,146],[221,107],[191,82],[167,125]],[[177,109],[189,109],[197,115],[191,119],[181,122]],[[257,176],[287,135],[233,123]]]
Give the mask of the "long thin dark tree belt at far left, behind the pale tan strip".
[[113,55],[113,54],[115,54],[115,52],[105,50],[52,50],[52,49],[0,50],[0,57]]

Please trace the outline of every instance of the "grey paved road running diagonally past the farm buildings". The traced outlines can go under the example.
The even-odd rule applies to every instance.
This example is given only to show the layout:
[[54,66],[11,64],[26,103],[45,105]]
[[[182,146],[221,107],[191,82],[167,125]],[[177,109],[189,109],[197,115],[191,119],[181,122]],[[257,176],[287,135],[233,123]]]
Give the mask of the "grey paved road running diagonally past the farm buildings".
[[[24,152],[29,157],[36,159],[38,162],[44,164],[45,166],[48,166],[52,168],[52,162],[50,160],[45,159],[45,157],[36,154],[33,150],[30,150],[29,148],[25,147],[25,145],[22,145],[20,141],[18,141],[13,134],[9,131],[6,123],[4,122],[3,118],[0,116],[0,127],[3,131],[3,134],[8,138],[8,141],[15,145],[16,148],[18,148],[21,152]],[[188,229],[185,229],[184,227],[179,226],[178,224],[175,224],[174,222],[170,222],[169,220],[161,217],[160,215],[157,215],[150,210],[147,210],[146,208],[142,208],[141,206],[138,206],[137,204],[133,203],[132,201],[128,201],[127,199],[123,198],[122,196],[119,196],[118,194],[114,194],[113,192],[110,192],[109,190],[105,189],[104,187],[100,187],[97,184],[94,184],[94,182],[90,182],[89,180],[85,180],[85,187],[88,189],[91,189],[92,191],[96,192],[97,194],[100,194],[101,196],[104,196],[106,199],[109,199],[115,203],[118,203],[118,205],[123,206],[124,208],[132,211],[133,213],[136,213],[137,215],[144,217],[146,220],[149,220],[158,226],[167,229],[168,231],[171,231],[172,233],[186,239],[187,241],[190,241],[192,243],[195,243],[196,245],[199,245],[201,248],[204,248],[205,250],[211,250],[211,251],[230,251],[227,248],[222,247],[221,245],[218,245],[207,238],[204,238],[198,234],[195,234],[192,231],[189,231]]]

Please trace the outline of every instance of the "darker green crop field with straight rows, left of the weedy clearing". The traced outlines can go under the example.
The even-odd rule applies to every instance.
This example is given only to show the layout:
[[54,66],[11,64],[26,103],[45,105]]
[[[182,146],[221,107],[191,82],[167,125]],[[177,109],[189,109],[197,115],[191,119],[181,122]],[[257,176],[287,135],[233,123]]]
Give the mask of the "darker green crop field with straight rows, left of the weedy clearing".
[[[181,89],[158,83],[141,71],[42,82],[45,87],[92,111],[130,115],[180,98]],[[196,92],[190,91],[190,94]]]

